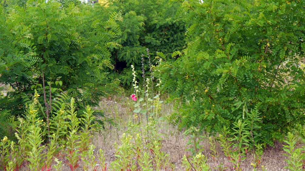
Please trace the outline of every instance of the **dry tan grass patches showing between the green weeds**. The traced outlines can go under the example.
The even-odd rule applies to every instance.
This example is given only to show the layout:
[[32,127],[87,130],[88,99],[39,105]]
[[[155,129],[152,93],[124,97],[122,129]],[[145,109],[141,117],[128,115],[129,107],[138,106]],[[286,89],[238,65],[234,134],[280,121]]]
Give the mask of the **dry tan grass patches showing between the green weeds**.
[[[163,104],[161,106],[162,115],[169,115],[173,110],[173,104]],[[105,130],[101,133],[96,133],[94,138],[94,144],[99,149],[102,148],[105,151],[105,157],[107,161],[107,165],[115,159],[114,153],[115,148],[113,146],[114,143],[120,144],[120,137],[124,133],[126,128],[126,123],[131,120],[133,121],[133,102],[124,97],[124,96],[115,96],[108,99],[102,99],[100,103],[100,110],[105,112],[106,118],[115,118],[115,124],[110,124],[110,122],[106,122]],[[189,155],[188,151],[185,151],[186,145],[188,143],[188,137],[182,134],[181,131],[178,131],[177,127],[168,124],[166,121],[160,121],[159,125],[160,133],[164,134],[163,136],[163,151],[170,154],[170,161],[175,164],[177,171],[184,170],[181,166],[181,158],[183,155]],[[119,138],[118,138],[119,137]],[[209,149],[210,144],[208,143],[208,139],[206,138],[201,142],[201,145],[205,148],[203,150],[203,154],[207,156],[207,164],[210,166],[212,170],[213,167],[217,167],[218,164],[223,164],[224,166],[228,166],[227,170],[232,169],[232,164],[225,157],[223,152],[221,151],[221,147],[217,142],[217,155],[219,157],[214,160],[210,154],[211,150]],[[287,170],[283,169],[283,167],[287,166],[287,163],[284,161],[286,159],[284,154],[284,150],[282,150],[282,144],[276,142],[275,147],[268,146],[264,149],[261,165],[267,166],[268,171],[280,171]],[[253,166],[251,163],[253,161],[252,152],[248,152],[246,159],[242,161],[241,167],[243,171],[253,170]],[[260,166],[259,169],[260,170]]]

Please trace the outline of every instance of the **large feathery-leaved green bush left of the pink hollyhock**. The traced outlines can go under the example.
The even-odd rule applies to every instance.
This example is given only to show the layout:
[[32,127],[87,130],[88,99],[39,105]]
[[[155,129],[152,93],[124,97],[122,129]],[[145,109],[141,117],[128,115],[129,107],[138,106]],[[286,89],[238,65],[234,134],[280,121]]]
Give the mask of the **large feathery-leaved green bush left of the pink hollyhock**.
[[120,14],[73,3],[63,8],[43,0],[0,10],[0,82],[15,89],[6,97],[13,100],[1,104],[1,109],[20,114],[22,97],[43,88],[67,92],[85,107],[80,104],[96,104],[115,86],[106,86],[110,83],[106,75],[114,68],[110,51],[121,47],[114,41]]

